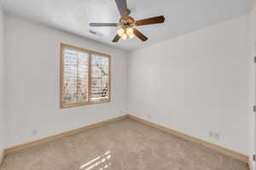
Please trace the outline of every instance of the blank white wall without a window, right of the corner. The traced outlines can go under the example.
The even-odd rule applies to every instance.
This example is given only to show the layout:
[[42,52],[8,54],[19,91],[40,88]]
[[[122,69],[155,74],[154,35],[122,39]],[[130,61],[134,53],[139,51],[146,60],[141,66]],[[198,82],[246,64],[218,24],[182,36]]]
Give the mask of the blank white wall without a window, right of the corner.
[[245,15],[132,52],[130,112],[248,154],[248,30]]

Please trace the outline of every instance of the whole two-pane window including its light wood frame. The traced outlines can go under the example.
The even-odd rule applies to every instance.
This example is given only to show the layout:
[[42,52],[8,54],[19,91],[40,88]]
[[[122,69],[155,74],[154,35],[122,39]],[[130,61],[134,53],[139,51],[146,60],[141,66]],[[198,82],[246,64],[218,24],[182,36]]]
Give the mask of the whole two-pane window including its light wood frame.
[[110,101],[110,56],[61,44],[61,108]]

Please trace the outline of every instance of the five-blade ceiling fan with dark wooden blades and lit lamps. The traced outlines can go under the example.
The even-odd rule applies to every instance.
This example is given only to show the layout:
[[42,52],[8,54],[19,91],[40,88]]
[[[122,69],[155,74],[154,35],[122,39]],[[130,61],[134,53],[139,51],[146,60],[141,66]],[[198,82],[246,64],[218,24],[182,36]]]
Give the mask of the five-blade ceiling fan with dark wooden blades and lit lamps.
[[113,38],[112,42],[118,42],[120,38],[126,40],[128,36],[130,39],[137,36],[139,39],[145,42],[148,40],[148,37],[144,36],[143,33],[134,28],[134,26],[146,26],[165,22],[165,17],[163,15],[143,20],[134,20],[131,16],[129,16],[129,14],[131,14],[131,10],[127,8],[126,0],[115,0],[115,3],[117,4],[119,13],[121,15],[119,23],[90,23],[90,26],[119,27],[120,29],[117,31],[117,35]]

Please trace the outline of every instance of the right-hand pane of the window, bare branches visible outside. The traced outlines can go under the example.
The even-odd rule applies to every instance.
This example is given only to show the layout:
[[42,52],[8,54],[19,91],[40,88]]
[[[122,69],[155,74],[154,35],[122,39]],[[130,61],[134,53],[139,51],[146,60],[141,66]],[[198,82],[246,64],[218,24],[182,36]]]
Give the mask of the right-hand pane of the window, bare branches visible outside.
[[90,100],[106,100],[109,97],[109,59],[91,55],[91,96]]

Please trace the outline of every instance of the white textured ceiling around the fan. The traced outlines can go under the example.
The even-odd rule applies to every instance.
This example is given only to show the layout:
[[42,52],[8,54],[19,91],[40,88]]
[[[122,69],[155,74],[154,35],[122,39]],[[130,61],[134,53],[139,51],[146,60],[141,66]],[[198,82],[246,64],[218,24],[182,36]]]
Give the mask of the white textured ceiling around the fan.
[[[147,42],[134,38],[113,43],[117,28],[90,28],[89,22],[119,20],[114,0],[3,0],[3,7],[9,14],[18,14],[113,47],[133,50],[247,14],[253,0],[127,0],[127,3],[136,20],[165,15],[164,24],[137,27],[148,37]],[[91,34],[90,29],[100,35]]]

